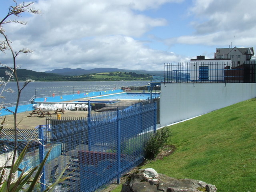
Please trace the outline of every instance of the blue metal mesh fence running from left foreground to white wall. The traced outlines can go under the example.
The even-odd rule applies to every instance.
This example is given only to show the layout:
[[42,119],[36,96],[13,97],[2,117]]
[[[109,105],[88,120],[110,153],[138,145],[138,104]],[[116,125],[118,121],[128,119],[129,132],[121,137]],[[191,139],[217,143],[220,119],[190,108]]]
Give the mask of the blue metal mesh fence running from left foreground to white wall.
[[[44,146],[34,143],[22,168],[36,166],[52,148],[41,182],[51,184],[68,165],[64,174],[72,178],[61,183],[56,191],[92,192],[110,181],[119,182],[123,173],[140,164],[144,144],[155,131],[156,103],[147,102],[116,112],[89,111],[86,118],[60,120],[60,124],[54,120],[54,124],[39,126],[36,132],[31,132],[31,138],[39,138]],[[5,133],[8,137],[1,134],[3,146],[13,142],[13,132]],[[27,140],[20,141],[19,146],[24,146]],[[3,151],[2,156],[5,154],[8,155]],[[45,186],[40,188],[44,190]]]

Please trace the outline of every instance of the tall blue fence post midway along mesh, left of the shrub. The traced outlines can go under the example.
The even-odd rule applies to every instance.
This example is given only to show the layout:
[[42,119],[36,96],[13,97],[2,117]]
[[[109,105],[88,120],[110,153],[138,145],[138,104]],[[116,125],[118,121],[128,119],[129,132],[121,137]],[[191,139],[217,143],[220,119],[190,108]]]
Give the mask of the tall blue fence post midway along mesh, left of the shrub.
[[116,110],[116,131],[117,131],[117,184],[120,183],[120,170],[121,170],[121,131],[120,131],[120,111]]

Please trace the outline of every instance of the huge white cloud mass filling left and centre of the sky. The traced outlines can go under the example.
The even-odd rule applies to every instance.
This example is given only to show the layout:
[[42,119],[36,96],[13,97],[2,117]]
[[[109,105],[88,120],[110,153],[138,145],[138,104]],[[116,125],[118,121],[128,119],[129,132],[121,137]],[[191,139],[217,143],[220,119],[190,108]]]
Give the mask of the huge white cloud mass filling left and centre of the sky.
[[23,17],[28,25],[18,28],[11,25],[8,30],[14,48],[25,46],[34,50],[32,55],[19,57],[23,68],[163,70],[163,60],[159,57],[174,59],[173,54],[148,49],[134,37],[167,22],[134,10],[152,9],[172,1],[179,0],[39,0],[34,6],[42,14]]

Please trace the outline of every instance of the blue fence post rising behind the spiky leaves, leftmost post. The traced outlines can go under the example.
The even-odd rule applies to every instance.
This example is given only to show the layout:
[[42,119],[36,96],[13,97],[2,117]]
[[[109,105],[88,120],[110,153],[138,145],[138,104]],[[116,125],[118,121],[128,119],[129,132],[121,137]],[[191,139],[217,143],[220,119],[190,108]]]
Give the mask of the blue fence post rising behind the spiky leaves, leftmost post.
[[[41,140],[41,145],[39,145],[39,162],[42,163],[43,160],[44,160],[44,132],[43,132],[43,129],[42,129],[42,126],[40,125],[39,128],[38,128],[38,137],[39,139]],[[43,167],[43,170],[42,170],[42,176],[40,178],[40,182],[42,183],[41,184],[41,191],[44,191],[46,190],[46,185],[45,184],[45,170],[44,170],[44,167]]]

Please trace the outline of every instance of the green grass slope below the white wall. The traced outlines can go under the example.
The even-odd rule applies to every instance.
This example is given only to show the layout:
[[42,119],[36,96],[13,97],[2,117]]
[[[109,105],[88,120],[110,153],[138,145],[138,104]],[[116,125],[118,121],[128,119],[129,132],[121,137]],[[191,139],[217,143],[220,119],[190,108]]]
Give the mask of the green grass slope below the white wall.
[[256,99],[170,126],[176,151],[143,168],[216,185],[218,192],[256,192]]

